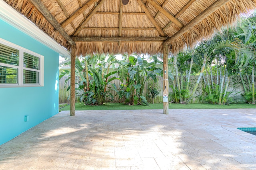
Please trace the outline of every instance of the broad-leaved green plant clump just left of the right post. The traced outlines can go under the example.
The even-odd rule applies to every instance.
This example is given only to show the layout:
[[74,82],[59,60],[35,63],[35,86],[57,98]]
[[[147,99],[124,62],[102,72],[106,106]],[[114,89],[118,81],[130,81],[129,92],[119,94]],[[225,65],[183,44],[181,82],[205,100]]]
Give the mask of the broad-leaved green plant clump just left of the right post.
[[[129,57],[124,55],[123,58],[124,60],[118,68],[118,76],[123,83],[122,87],[126,87],[126,89],[117,92],[119,98],[124,96],[125,103],[128,105],[142,103],[148,105],[143,95],[144,86],[149,78],[152,78],[154,82],[157,81],[157,76],[162,72],[162,68],[156,67],[156,63],[160,63],[160,61],[157,59],[157,56],[152,56],[153,61],[148,63],[144,56],[140,57],[136,54]],[[113,86],[114,90],[115,88]]]

